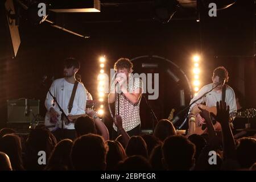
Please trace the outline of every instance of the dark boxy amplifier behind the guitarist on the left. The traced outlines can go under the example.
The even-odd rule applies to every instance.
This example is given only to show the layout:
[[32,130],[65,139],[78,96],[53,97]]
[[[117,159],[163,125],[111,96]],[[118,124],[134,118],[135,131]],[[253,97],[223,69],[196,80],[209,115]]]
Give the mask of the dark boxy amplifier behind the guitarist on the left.
[[39,115],[39,100],[7,100],[7,122],[33,122]]

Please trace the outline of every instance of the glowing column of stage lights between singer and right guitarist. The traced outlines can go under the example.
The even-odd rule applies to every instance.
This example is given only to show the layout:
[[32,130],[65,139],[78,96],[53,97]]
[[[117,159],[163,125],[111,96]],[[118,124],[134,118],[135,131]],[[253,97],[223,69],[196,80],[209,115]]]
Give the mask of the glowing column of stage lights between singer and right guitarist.
[[195,92],[195,96],[197,95],[197,92],[199,91],[199,86],[200,86],[200,68],[199,68],[199,61],[200,61],[200,56],[199,55],[194,55],[192,58],[193,61],[193,90]]

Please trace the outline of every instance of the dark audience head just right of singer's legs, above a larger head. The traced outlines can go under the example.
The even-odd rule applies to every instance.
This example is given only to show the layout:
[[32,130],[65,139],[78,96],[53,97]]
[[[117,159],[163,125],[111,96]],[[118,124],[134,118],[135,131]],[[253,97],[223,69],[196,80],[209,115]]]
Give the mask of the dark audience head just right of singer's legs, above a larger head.
[[162,142],[167,137],[176,135],[176,130],[172,122],[168,119],[161,119],[155,126],[154,136],[161,140]]

